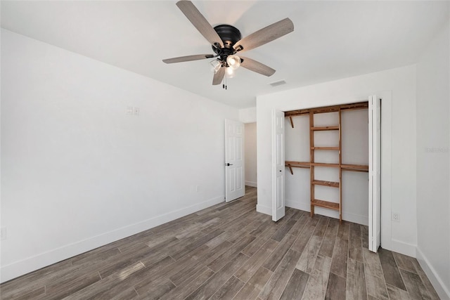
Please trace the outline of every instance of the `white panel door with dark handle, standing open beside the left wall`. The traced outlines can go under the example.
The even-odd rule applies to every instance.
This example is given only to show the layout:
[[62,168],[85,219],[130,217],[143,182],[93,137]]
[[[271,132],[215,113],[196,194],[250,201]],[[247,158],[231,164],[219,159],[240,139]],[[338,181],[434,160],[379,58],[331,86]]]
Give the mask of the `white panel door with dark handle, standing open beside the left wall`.
[[244,124],[225,120],[225,201],[245,195]]

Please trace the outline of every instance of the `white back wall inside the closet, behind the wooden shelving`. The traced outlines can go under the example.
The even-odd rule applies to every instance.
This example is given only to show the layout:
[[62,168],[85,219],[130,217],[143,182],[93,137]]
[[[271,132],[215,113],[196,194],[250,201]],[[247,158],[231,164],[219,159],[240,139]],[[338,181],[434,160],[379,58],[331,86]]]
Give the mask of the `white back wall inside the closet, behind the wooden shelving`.
[[[309,115],[293,117],[294,128],[285,119],[285,160],[309,162]],[[343,111],[342,163],[368,164],[368,110]],[[314,115],[314,126],[339,124],[338,112]],[[338,131],[316,131],[316,146],[338,146]],[[316,162],[338,163],[339,153],[334,150],[314,152]],[[339,181],[339,170],[315,167],[315,178]],[[293,174],[285,170],[285,201],[287,207],[310,210],[309,169],[293,168]],[[317,199],[339,202],[339,189],[315,186]],[[316,214],[339,218],[339,212],[316,207]],[[368,173],[342,171],[342,219],[368,225]]]

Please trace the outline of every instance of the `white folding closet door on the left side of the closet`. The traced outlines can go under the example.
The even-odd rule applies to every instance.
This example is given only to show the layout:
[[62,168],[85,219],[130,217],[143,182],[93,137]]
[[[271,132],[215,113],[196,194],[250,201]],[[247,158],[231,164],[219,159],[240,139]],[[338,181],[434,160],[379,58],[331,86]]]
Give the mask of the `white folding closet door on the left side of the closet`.
[[285,214],[284,204],[284,112],[272,112],[272,220]]

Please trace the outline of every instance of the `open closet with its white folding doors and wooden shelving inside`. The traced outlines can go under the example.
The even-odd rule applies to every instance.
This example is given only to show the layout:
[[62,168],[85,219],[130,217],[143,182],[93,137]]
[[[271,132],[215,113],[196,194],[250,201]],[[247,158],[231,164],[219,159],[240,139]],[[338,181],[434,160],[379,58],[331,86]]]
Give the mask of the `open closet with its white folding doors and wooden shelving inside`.
[[287,206],[309,211],[311,217],[359,223],[368,226],[369,249],[376,252],[382,213],[380,113],[377,96],[352,104],[273,110],[272,220],[281,219]]

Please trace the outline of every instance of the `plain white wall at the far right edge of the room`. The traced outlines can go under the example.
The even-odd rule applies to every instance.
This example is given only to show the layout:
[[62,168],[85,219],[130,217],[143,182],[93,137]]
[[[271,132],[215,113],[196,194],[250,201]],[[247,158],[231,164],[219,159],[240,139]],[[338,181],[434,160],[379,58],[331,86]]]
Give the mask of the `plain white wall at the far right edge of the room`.
[[417,65],[418,261],[442,299],[450,299],[449,34],[447,23]]

